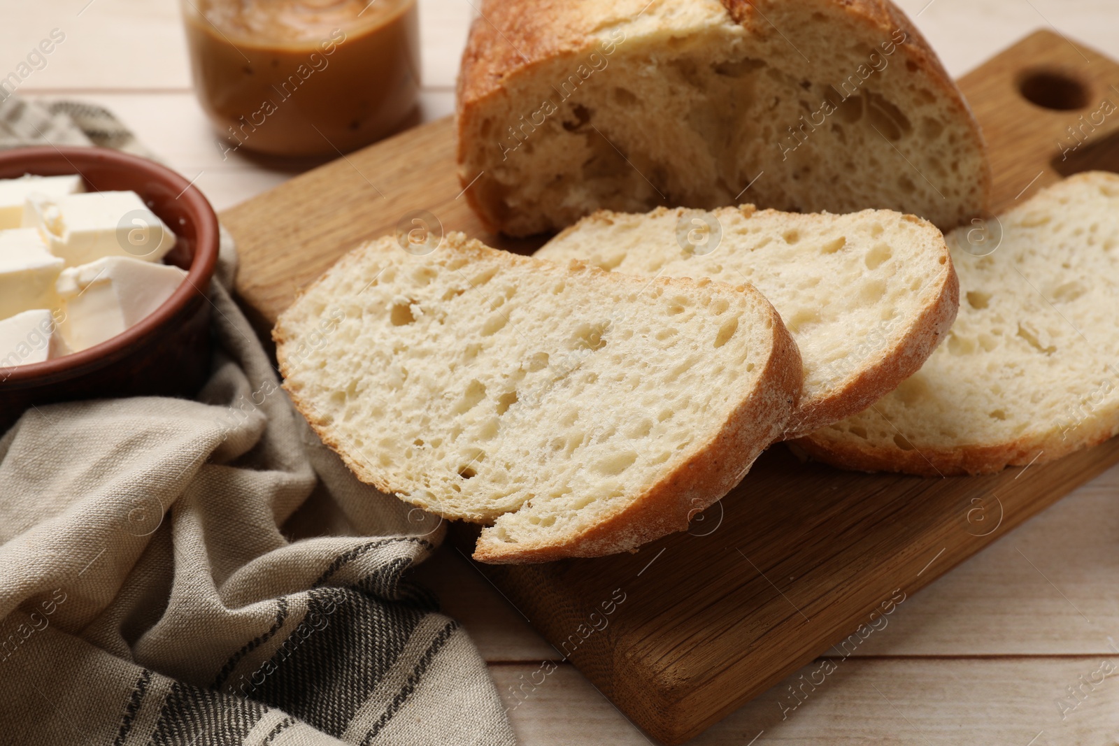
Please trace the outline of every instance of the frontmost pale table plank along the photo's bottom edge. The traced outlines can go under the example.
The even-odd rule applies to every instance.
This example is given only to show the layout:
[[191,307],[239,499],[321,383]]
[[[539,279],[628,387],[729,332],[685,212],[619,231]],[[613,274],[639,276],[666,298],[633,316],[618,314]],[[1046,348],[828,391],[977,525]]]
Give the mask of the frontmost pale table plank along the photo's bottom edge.
[[[803,687],[798,670],[770,692],[741,708],[694,746],[1111,746],[1119,731],[1119,681],[1103,679],[1083,702],[1065,709],[1065,687],[1100,679],[1104,661],[1119,655],[1045,660],[848,660],[822,686]],[[510,707],[509,719],[525,744],[648,746],[610,702],[567,664],[544,678],[538,665],[491,669]],[[533,681],[540,681],[534,688]],[[528,682],[528,683],[526,683]],[[525,692],[514,696],[511,692]],[[952,707],[958,703],[957,707]],[[1062,719],[1061,714],[1065,712]],[[784,717],[782,717],[784,716]]]

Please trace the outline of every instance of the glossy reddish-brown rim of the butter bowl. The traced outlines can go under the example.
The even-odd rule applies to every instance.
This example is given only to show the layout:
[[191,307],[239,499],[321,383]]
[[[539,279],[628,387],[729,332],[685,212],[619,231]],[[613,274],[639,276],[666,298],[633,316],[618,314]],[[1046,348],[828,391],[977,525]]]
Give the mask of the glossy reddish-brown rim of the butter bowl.
[[[186,213],[195,221],[197,235],[195,255],[184,282],[162,305],[138,323],[100,344],[77,352],[43,362],[0,367],[0,388],[6,387],[6,385],[23,388],[28,384],[67,380],[88,370],[98,369],[124,357],[131,347],[172,321],[196,296],[200,295],[207,303],[213,303],[206,295],[206,289],[209,287],[210,278],[217,267],[218,221],[209,200],[195,187],[194,181],[188,181],[181,174],[156,161],[111,148],[86,145],[35,145],[3,150],[0,151],[0,168],[19,164],[25,173],[58,176],[51,170],[51,167],[56,167],[59,159],[68,163],[73,168],[72,172],[81,176],[86,186],[91,185],[90,180],[82,173],[81,167],[83,164],[116,162],[135,172],[138,177],[147,177],[177,190],[179,196],[176,199],[182,200]],[[51,172],[40,173],[40,170],[51,170]],[[158,210],[153,209],[152,211],[159,216]],[[163,219],[163,216],[159,217]]]

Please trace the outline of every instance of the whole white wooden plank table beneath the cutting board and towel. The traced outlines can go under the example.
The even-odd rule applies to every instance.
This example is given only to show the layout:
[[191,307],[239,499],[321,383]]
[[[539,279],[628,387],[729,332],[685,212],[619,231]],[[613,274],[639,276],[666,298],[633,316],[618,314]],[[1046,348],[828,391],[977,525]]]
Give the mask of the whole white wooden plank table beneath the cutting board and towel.
[[[425,119],[452,110],[471,2],[478,4],[421,0]],[[1040,27],[1119,58],[1116,0],[901,6],[956,76]],[[20,93],[109,106],[176,169],[197,178],[217,209],[293,176],[237,153],[223,161],[191,92],[175,0],[0,0],[0,76],[60,29],[65,41]],[[797,674],[695,743],[1119,743],[1117,498],[1119,468],[908,599],[857,658],[786,710],[784,719],[779,701],[791,701],[787,687]],[[543,660],[555,659],[555,651],[449,548],[417,575],[464,623],[498,689],[516,703],[510,688]],[[1117,672],[1100,681],[1106,660]],[[1081,687],[1081,693],[1070,698],[1069,687]],[[528,745],[647,742],[567,664],[509,717]]]

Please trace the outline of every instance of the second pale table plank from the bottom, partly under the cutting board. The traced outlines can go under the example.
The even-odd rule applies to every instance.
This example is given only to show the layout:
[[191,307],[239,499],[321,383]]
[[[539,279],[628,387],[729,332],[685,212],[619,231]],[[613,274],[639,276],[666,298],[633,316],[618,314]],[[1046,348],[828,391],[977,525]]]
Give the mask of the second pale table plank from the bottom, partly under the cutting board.
[[[1003,539],[908,598],[854,657],[946,657],[950,665],[965,657],[1113,652],[1111,641],[1119,639],[1112,580],[1119,576],[1117,497],[1119,469],[1111,469],[1013,533],[1000,531]],[[439,588],[446,612],[470,631],[487,660],[561,659],[454,549],[440,551],[416,578]]]

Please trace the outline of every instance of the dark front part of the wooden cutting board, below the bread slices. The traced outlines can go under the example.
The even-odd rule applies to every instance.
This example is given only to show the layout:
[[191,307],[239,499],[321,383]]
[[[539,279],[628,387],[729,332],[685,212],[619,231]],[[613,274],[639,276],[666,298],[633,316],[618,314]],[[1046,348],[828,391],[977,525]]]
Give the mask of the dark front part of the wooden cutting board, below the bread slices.
[[774,447],[688,533],[632,555],[478,568],[562,660],[677,744],[817,655],[855,654],[916,591],[1117,462],[1112,440],[1042,466],[925,479]]

